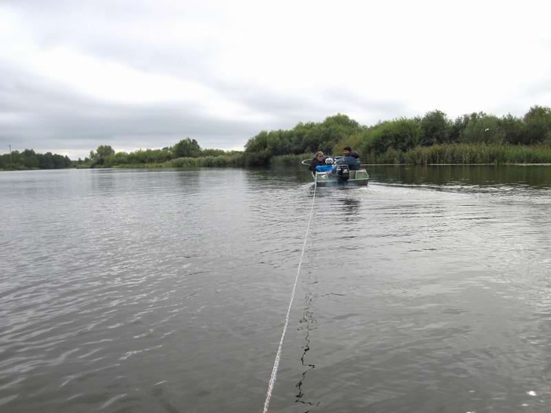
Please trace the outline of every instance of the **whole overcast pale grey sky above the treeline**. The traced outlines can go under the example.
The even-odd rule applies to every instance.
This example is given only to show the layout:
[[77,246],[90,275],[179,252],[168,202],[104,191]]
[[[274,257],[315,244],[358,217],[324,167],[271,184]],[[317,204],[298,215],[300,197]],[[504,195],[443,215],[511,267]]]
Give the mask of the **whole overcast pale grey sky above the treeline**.
[[0,153],[551,105],[551,1],[0,0]]

